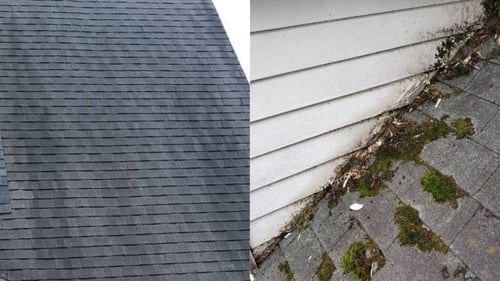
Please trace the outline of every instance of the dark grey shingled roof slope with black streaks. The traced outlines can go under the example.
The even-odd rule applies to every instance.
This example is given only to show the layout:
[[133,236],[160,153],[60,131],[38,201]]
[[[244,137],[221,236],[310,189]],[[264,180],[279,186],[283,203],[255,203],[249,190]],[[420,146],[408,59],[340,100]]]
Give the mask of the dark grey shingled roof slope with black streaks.
[[249,278],[248,85],[209,0],[6,0],[0,35],[0,279]]

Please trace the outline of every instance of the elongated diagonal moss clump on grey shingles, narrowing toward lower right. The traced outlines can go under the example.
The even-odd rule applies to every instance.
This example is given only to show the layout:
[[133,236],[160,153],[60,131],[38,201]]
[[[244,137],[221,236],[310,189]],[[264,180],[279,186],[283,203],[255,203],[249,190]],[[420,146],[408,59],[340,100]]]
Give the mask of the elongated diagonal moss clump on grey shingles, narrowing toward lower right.
[[424,226],[418,211],[409,205],[396,208],[394,221],[399,225],[398,240],[404,246],[417,246],[422,252],[448,252],[448,246],[434,232]]

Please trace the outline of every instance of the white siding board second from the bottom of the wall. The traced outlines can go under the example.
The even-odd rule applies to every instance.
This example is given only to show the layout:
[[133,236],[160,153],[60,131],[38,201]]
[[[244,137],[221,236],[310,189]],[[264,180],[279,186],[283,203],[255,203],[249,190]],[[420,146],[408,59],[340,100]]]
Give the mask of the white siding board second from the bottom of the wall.
[[250,193],[250,220],[291,205],[321,190],[345,161],[338,158]]

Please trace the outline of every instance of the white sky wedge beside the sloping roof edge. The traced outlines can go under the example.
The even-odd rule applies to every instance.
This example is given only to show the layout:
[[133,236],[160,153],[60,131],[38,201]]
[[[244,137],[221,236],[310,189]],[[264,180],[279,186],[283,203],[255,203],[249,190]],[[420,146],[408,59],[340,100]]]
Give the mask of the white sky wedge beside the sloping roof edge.
[[212,0],[212,2],[248,80],[250,78],[250,0]]

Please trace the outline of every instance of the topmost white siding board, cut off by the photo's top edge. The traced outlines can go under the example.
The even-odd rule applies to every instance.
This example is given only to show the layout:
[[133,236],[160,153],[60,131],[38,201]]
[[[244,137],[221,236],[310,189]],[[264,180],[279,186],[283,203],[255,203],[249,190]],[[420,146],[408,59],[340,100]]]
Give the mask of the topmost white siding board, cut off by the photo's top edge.
[[251,31],[339,20],[457,0],[252,0]]

